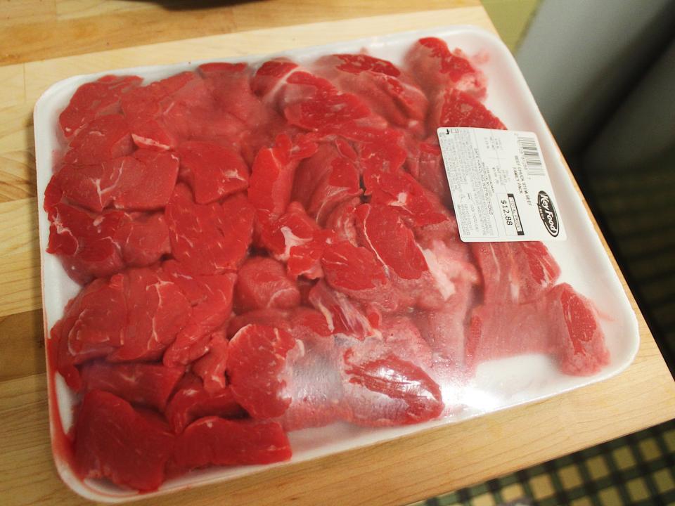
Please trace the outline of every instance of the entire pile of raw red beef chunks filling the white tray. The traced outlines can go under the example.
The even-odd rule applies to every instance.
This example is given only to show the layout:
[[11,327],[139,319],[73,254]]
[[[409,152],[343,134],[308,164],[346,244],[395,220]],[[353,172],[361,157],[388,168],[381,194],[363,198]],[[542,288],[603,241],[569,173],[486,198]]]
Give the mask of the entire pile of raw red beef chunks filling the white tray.
[[47,251],[82,290],[48,359],[75,472],[153,491],[292,455],[288,432],[454,416],[486,361],[609,363],[540,242],[461,242],[438,126],[505,129],[441,39],[397,67],[207,63],[83,84],[61,112]]

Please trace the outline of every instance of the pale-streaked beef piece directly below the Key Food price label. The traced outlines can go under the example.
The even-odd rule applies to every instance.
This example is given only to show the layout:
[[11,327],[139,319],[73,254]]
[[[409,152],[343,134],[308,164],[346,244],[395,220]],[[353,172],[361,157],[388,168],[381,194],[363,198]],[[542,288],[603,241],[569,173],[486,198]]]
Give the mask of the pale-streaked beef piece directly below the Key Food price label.
[[542,242],[472,242],[485,304],[523,304],[555,284],[560,266]]

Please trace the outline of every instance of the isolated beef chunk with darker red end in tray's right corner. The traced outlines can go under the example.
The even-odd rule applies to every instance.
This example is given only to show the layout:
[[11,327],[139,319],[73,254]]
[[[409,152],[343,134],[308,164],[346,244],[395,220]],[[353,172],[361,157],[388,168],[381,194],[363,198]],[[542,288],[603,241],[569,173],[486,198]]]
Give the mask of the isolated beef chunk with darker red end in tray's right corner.
[[593,304],[563,283],[528,304],[473,310],[466,343],[470,368],[522,353],[551,355],[562,372],[592,375],[609,362]]

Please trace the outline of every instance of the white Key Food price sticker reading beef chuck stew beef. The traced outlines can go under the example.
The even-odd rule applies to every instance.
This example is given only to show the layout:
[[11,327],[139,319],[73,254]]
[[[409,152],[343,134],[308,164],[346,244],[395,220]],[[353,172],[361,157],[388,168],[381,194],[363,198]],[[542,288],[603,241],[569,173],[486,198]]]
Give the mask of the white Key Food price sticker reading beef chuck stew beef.
[[437,133],[461,240],[565,240],[535,134],[456,127]]

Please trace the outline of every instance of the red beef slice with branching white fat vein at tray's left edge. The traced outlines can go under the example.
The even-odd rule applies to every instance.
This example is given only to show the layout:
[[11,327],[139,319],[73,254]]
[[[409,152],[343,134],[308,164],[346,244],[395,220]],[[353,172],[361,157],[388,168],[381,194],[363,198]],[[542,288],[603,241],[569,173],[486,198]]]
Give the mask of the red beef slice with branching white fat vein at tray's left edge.
[[178,176],[174,155],[138,150],[97,165],[65,164],[53,176],[65,197],[91,211],[159,209],[167,205]]

